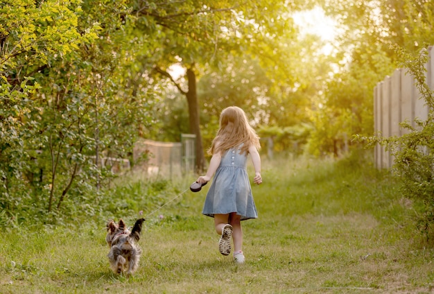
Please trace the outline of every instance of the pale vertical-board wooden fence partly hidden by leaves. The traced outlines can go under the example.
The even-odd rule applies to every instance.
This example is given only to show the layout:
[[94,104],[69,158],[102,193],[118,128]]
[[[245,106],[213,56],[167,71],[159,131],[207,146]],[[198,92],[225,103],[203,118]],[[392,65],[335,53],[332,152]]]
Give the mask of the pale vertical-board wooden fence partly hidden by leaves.
[[[428,48],[426,64],[426,83],[434,89],[434,47]],[[428,117],[428,106],[417,87],[415,79],[406,69],[397,69],[392,76],[386,76],[374,88],[374,132],[382,137],[400,136],[407,130],[399,124],[408,121],[415,126],[415,119],[425,121]],[[374,150],[376,168],[390,168],[394,159],[383,146],[377,145]]]

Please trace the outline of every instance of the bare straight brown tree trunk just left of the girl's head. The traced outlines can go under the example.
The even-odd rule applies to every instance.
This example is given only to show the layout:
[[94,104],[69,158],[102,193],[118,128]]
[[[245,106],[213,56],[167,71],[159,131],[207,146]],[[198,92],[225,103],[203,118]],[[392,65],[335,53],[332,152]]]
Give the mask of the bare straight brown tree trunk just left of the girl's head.
[[196,74],[193,69],[186,70],[189,81],[189,90],[186,92],[186,98],[189,103],[189,123],[190,132],[196,135],[196,172],[201,173],[205,170],[205,154],[202,146],[202,135],[200,135],[200,116],[198,94],[196,92]]

